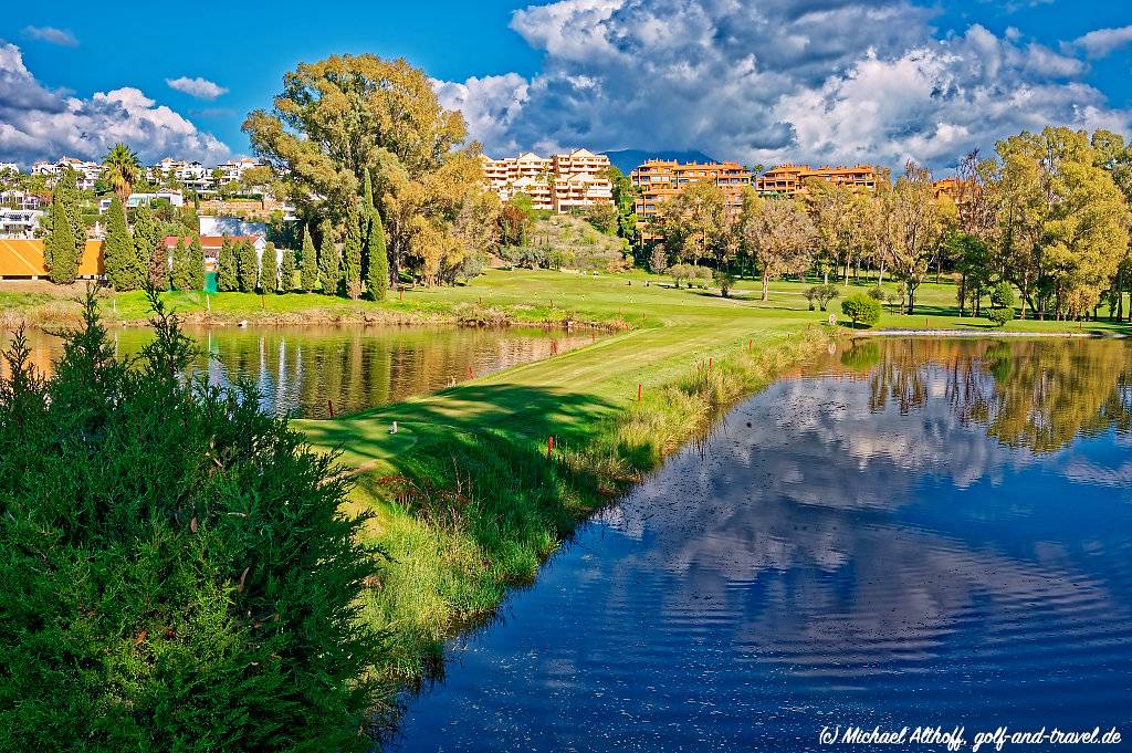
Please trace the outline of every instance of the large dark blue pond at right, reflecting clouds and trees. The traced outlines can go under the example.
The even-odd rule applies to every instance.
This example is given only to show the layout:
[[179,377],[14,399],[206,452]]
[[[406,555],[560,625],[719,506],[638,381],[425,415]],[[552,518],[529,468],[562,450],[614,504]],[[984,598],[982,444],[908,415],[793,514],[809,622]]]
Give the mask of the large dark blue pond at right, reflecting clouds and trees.
[[1130,427],[1123,342],[846,348],[452,642],[389,748],[937,751],[818,734],[938,725],[1127,750]]

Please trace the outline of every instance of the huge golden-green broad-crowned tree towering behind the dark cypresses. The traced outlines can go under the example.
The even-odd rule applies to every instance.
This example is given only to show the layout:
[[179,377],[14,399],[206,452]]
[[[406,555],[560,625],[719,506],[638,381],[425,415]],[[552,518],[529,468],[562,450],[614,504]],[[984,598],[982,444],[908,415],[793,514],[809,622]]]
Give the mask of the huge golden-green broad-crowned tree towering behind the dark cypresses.
[[341,222],[368,168],[394,277],[402,266],[424,265],[414,248],[436,247],[414,242],[418,234],[451,234],[464,196],[484,190],[478,145],[460,146],[463,117],[445,110],[429,77],[404,60],[302,63],[284,77],[273,111],[252,112],[243,129],[308,220]]

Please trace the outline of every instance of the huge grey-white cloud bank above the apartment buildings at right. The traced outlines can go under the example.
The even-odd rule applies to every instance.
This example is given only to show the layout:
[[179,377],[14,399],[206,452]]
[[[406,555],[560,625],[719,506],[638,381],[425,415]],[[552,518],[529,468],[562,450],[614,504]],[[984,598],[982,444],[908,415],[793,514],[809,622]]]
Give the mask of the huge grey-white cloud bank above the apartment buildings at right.
[[1022,128],[1132,122],[1083,82],[1079,48],[979,25],[940,35],[931,19],[906,0],[560,0],[512,17],[543,52],[539,74],[437,91],[489,153],[697,148],[946,168]]

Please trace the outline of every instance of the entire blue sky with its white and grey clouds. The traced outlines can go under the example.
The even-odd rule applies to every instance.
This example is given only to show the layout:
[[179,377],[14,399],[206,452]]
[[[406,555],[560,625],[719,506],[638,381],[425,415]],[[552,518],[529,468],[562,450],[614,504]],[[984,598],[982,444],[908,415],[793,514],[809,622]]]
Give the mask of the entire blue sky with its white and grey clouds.
[[1040,122],[1132,122],[1132,11],[1110,0],[280,1],[204,18],[175,3],[14,5],[0,161],[94,156],[114,138],[152,160],[246,153],[245,113],[333,52],[408,58],[490,153],[946,168]]

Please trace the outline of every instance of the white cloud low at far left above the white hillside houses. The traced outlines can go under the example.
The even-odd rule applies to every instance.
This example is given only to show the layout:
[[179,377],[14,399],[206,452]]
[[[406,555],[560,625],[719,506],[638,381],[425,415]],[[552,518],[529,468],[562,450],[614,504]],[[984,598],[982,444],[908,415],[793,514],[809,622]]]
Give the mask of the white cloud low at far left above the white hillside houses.
[[118,142],[145,161],[169,154],[222,161],[230,154],[212,134],[140,89],[97,92],[89,99],[48,89],[24,65],[19,48],[0,42],[0,161],[97,159]]

